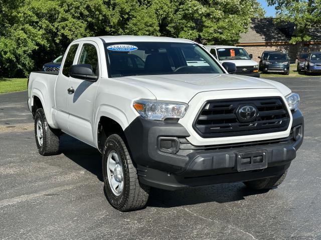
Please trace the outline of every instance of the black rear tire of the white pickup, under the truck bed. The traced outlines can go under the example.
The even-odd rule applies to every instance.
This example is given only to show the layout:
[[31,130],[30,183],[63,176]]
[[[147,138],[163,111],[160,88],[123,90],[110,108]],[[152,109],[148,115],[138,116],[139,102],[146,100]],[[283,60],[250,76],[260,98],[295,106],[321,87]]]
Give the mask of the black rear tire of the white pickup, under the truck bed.
[[[43,143],[40,144],[37,134],[37,123],[41,120],[43,129]],[[41,155],[54,155],[59,153],[60,129],[51,128],[43,108],[38,108],[35,115],[35,137],[38,151]]]

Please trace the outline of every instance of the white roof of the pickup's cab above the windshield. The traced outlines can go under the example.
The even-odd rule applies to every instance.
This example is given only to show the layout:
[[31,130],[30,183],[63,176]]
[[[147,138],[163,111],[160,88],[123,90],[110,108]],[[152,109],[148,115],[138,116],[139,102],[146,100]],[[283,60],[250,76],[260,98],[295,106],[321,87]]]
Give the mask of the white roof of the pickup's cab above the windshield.
[[193,43],[192,40],[184,38],[173,38],[166,36],[132,36],[132,35],[120,35],[120,36],[94,36],[83,37],[75,41],[94,40],[105,42],[126,42],[126,41],[163,41],[163,42],[185,42]]

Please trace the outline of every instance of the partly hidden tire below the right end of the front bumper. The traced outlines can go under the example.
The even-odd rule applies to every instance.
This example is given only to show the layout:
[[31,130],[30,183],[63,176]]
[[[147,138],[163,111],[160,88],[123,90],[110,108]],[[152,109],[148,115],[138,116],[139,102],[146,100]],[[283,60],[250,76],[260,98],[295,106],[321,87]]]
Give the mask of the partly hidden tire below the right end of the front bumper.
[[268,177],[253,181],[244,181],[243,183],[252,189],[260,190],[260,189],[271,189],[277,187],[282,183],[286,176],[287,170],[283,172],[283,174],[274,177]]

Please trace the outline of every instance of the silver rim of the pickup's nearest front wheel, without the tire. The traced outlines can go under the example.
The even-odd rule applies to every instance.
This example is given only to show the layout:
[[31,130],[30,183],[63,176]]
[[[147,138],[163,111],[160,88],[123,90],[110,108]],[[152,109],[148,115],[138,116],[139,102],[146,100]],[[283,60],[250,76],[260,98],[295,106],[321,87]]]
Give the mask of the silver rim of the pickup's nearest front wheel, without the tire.
[[124,179],[120,157],[114,150],[110,151],[108,154],[106,170],[109,186],[112,192],[116,196],[119,196],[124,187]]

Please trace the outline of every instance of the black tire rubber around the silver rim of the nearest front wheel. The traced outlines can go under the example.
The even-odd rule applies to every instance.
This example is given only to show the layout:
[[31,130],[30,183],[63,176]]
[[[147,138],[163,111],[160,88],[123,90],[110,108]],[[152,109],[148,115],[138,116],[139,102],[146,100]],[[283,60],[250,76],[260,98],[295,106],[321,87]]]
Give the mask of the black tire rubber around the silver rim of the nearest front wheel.
[[[115,195],[109,185],[107,158],[111,151],[116,151],[122,163],[123,190]],[[124,140],[118,134],[110,135],[105,142],[102,155],[102,172],[104,189],[109,203],[120,211],[131,211],[143,208],[148,200],[149,186],[138,181],[134,166]]]

